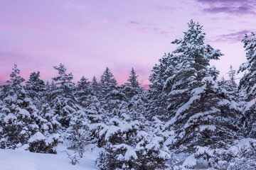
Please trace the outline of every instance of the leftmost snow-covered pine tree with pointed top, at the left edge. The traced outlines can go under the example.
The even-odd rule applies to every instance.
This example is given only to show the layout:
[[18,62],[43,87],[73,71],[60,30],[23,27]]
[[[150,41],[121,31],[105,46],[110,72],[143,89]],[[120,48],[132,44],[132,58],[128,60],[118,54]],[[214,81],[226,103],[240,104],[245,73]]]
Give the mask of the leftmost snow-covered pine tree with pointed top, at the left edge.
[[20,70],[14,64],[13,72],[10,74],[11,79],[8,81],[11,85],[10,90],[1,108],[1,113],[4,113],[1,120],[3,134],[1,140],[6,141],[4,147],[11,149],[28,144],[28,139],[39,129],[36,123],[38,110],[31,98],[27,97],[21,85],[25,80],[19,74]]

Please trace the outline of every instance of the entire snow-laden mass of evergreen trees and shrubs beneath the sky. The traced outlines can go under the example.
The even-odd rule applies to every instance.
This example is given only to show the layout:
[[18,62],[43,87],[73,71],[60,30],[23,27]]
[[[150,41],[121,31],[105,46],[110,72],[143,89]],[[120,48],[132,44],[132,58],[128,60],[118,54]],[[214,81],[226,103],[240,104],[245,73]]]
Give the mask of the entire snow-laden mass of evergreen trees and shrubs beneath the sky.
[[227,80],[210,66],[223,53],[205,39],[191,20],[151,69],[148,91],[136,67],[120,85],[109,67],[74,82],[59,64],[45,82],[41,72],[25,81],[14,64],[0,86],[1,150],[65,152],[72,164],[97,152],[102,170],[256,169],[255,33],[242,40],[239,84],[232,66]]

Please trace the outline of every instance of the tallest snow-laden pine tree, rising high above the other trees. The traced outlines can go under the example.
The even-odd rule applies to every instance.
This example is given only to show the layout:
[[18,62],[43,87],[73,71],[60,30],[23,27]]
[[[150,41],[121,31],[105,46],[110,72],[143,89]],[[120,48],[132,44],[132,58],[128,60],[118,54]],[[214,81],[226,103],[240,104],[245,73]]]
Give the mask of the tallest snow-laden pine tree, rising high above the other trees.
[[191,154],[197,146],[225,148],[233,144],[240,137],[238,120],[242,114],[237,103],[216,84],[218,71],[209,68],[210,60],[218,60],[222,54],[204,44],[202,26],[191,21],[188,28],[183,39],[173,42],[181,45],[173,52],[180,63],[169,78],[171,84],[166,85],[169,109],[174,113],[166,128],[175,130],[169,146]]

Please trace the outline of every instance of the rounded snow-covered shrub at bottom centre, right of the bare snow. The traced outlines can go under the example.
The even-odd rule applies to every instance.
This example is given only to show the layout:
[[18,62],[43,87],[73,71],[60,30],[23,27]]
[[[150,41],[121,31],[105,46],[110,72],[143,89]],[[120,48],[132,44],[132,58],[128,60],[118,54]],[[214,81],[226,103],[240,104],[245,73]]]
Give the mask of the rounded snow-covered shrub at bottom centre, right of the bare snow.
[[110,119],[105,133],[105,151],[100,153],[100,169],[164,169],[170,159],[164,139],[142,131],[138,120]]

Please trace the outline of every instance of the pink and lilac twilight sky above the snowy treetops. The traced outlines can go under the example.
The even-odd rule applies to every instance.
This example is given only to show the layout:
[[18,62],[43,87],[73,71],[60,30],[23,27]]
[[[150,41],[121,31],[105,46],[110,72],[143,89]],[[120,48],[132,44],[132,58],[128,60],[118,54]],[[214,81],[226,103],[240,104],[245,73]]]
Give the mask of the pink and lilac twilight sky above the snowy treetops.
[[[164,52],[173,51],[191,19],[224,56],[212,64],[228,78],[230,64],[245,62],[240,42],[255,31],[256,2],[249,0],[11,0],[0,1],[0,84],[14,63],[27,80],[33,71],[50,80],[65,64],[74,81],[98,80],[109,67],[119,84],[134,67],[142,84]],[[240,77],[240,76],[238,76]]]

